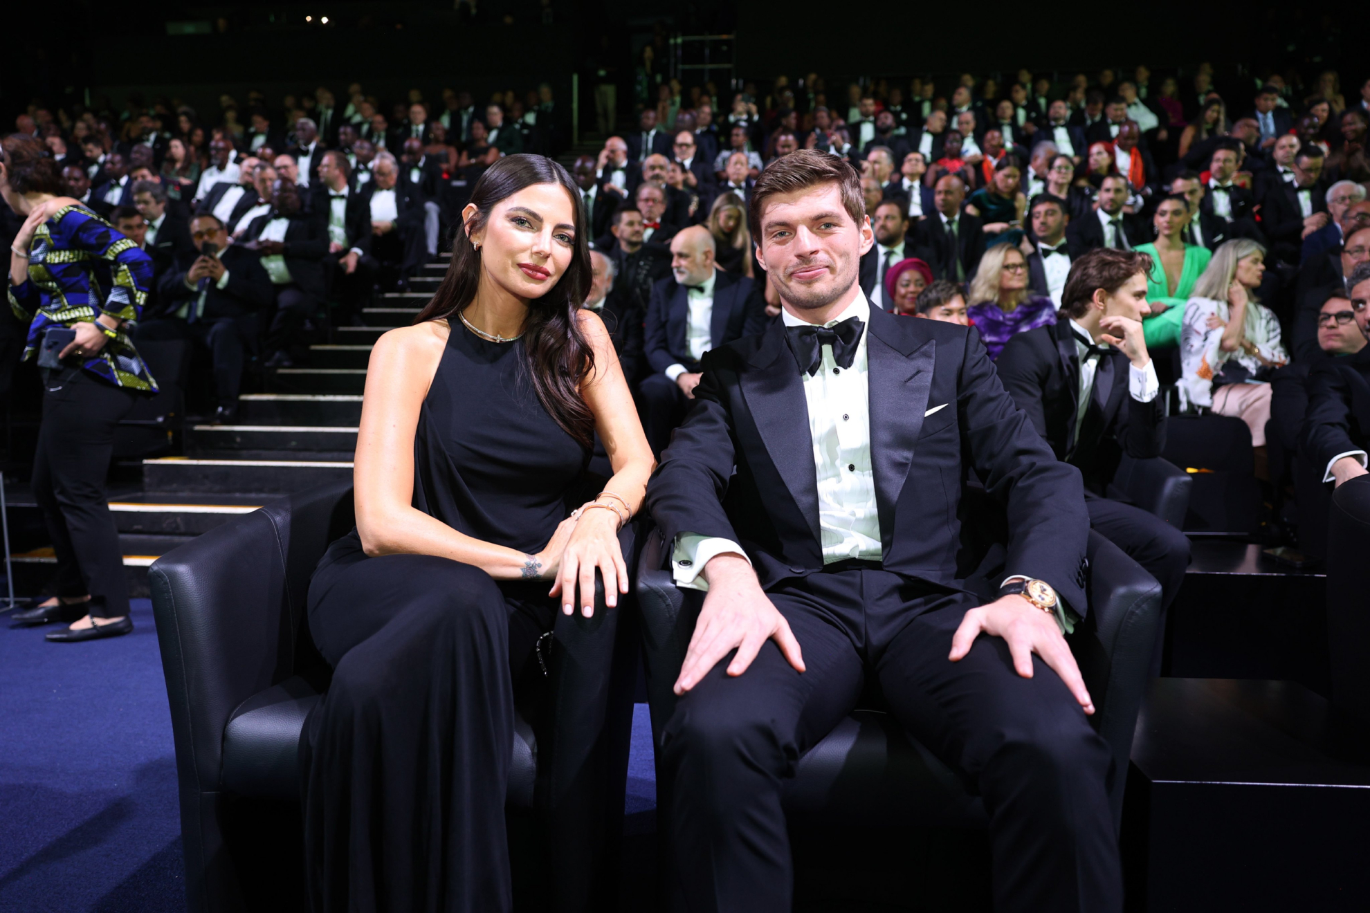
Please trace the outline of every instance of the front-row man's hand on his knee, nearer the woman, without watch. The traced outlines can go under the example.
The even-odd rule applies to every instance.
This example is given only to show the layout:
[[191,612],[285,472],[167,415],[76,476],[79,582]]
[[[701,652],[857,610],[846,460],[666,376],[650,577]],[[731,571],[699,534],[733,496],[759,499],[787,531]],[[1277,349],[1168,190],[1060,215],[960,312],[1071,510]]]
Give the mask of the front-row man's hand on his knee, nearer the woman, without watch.
[[729,675],[741,675],[774,638],[781,653],[797,671],[804,671],[804,657],[789,623],[756,580],[756,572],[740,554],[715,556],[704,567],[708,594],[695,623],[685,663],[675,679],[675,694],[685,694],[699,684],[730,650],[737,656],[727,664]]

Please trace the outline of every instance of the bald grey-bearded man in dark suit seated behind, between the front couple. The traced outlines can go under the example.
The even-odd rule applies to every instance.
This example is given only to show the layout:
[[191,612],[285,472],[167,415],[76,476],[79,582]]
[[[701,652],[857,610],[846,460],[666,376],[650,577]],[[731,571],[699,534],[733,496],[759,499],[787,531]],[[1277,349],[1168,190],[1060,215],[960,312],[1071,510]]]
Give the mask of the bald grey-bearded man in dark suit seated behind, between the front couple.
[[751,296],[752,281],[714,266],[714,235],[690,226],[671,240],[671,277],[652,286],[641,383],[647,442],[660,453],[685,417],[699,383],[700,359],[733,339],[760,333],[764,304]]

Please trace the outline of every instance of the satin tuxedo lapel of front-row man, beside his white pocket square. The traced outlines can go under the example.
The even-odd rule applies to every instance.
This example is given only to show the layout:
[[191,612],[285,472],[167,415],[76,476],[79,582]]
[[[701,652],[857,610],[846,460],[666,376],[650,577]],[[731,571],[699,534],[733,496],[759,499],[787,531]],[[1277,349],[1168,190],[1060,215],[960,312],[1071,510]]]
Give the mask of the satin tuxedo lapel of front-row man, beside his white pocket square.
[[[870,398],[870,461],[886,553],[895,534],[895,505],[912,465],[932,391],[937,345],[908,333],[908,318],[871,309],[866,344]],[[803,396],[803,390],[800,390]],[[812,463],[812,454],[810,463]]]

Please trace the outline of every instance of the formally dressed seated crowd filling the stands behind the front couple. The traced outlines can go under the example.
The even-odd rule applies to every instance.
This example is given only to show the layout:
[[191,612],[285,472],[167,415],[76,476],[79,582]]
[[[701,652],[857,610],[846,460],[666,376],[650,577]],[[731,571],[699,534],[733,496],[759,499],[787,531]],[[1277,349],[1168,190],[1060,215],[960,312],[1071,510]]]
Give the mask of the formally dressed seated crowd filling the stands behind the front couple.
[[[1201,64],[1182,81],[1137,67],[1054,83],[1023,70],[1007,86],[964,74],[907,92],[852,83],[845,97],[812,74],[766,94],[660,90],[632,130],[570,167],[593,237],[586,307],[614,329],[655,453],[703,355],[778,319],[751,194],[777,159],[819,149],[862,177],[874,244],[859,281],[873,305],[973,324],[995,359],[1036,330],[1063,352],[1097,348],[1115,337],[1066,308],[1073,267],[1097,249],[1136,255],[1114,267],[1145,274],[1137,344],[1155,363],[1132,378],[1134,397],[1163,415],[1240,419],[1258,475],[1282,474],[1267,478],[1277,490],[1291,474],[1317,487],[1365,472],[1370,424],[1352,393],[1370,356],[1351,324],[1363,333],[1370,316],[1370,81],[1343,99],[1336,74],[1312,93],[1269,74],[1223,96]],[[437,116],[411,90],[386,118],[360,86],[345,107],[321,88],[248,110],[245,125],[227,97],[214,126],[166,104],[18,122],[60,159],[71,196],[152,255],[138,333],[211,353],[219,420],[249,359],[296,364],[327,322],[360,323],[377,290],[407,289],[484,168],[564,145],[545,85],[484,108],[445,90]],[[1296,394],[1274,397],[1281,383]],[[1077,422],[1063,457],[1080,434]]]

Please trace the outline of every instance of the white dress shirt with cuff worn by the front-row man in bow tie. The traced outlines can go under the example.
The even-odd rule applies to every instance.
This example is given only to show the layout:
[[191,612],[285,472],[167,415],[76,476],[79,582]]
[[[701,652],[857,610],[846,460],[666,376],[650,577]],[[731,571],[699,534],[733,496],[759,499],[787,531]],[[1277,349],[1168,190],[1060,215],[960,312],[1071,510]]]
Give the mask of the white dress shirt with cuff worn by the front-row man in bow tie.
[[[833,326],[848,318],[870,323],[870,303],[866,296],[856,298],[837,318]],[[804,326],[804,320],[781,312],[785,326]],[[814,465],[818,470],[818,527],[822,535],[823,564],[882,557],[880,512],[875,502],[875,472],[870,459],[870,402],[867,334],[856,344],[852,367],[843,370],[833,360],[833,348],[823,346],[823,361],[814,376],[800,375],[804,383],[804,402],[808,407],[808,433],[814,445]],[[722,538],[706,538],[692,532],[677,537],[671,556],[675,584],[707,590],[699,578],[708,561],[725,553],[747,557],[741,546]]]

